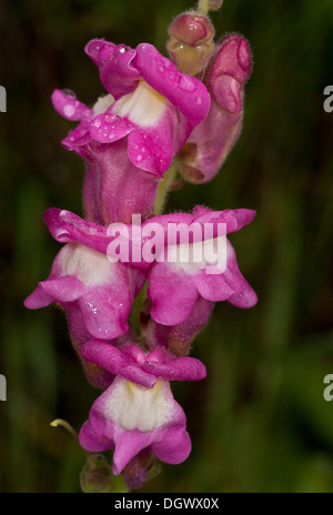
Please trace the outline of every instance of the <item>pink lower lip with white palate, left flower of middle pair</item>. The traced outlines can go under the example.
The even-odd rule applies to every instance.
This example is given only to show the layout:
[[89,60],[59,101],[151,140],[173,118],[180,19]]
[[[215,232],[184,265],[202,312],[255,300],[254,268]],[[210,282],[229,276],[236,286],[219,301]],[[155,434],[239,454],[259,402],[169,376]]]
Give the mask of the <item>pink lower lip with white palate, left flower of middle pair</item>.
[[[64,242],[60,230],[52,232],[53,219],[54,211],[47,211],[46,222],[52,235]],[[74,309],[92,336],[112,340],[128,332],[132,301],[145,276],[130,265],[111,263],[100,252],[99,235],[90,239],[90,246],[85,243],[85,235],[77,231],[56,256],[49,277],[38,284],[24,305],[36,310],[54,302],[69,313],[70,320]]]

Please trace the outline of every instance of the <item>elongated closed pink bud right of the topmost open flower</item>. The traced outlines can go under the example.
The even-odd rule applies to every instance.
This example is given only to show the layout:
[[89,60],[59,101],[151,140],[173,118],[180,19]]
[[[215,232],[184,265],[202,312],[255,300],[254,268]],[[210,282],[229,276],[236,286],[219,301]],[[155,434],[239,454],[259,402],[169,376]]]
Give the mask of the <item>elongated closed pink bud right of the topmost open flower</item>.
[[244,83],[252,71],[249,44],[236,34],[216,44],[203,82],[211,108],[179,153],[180,172],[192,183],[213,179],[235,144],[242,128]]

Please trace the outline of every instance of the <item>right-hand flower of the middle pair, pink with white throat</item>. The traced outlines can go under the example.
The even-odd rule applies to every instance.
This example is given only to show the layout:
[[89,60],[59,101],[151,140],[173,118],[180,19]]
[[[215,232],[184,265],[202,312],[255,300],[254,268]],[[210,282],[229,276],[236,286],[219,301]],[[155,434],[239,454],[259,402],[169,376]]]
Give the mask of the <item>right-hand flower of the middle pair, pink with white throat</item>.
[[[214,212],[196,206],[193,210],[193,220],[188,220],[186,223],[190,225],[195,222],[202,226],[205,223],[216,225],[223,223],[225,234],[228,234],[248,225],[255,214],[255,211],[245,209]],[[213,255],[219,245],[218,238],[212,238],[204,243],[211,246]],[[188,319],[199,297],[211,302],[228,301],[242,309],[256,304],[256,294],[239,269],[232,244],[226,238],[223,244],[226,245],[225,262],[220,272],[218,264],[214,273],[210,273],[209,270],[214,266],[205,256],[198,261],[192,259],[190,262],[182,262],[178,258],[174,261],[153,262],[149,273],[147,295],[152,303],[151,316],[155,322],[163,325],[181,324]],[[175,251],[176,246],[174,246]],[[195,242],[192,249],[194,256]],[[179,253],[174,252],[174,255],[178,256]]]

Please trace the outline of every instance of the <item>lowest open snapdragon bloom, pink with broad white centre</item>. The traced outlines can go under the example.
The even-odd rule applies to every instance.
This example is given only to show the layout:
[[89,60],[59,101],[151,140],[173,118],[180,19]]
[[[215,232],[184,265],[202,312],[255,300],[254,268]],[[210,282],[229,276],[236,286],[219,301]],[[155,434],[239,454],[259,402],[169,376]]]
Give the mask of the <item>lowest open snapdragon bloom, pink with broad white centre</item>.
[[143,450],[170,464],[186,460],[191,452],[186,420],[169,381],[202,380],[206,375],[204,365],[192,357],[172,359],[162,350],[144,354],[134,344],[119,350],[99,341],[87,343],[82,354],[117,372],[80,430],[82,447],[88,452],[114,448],[114,475]]

